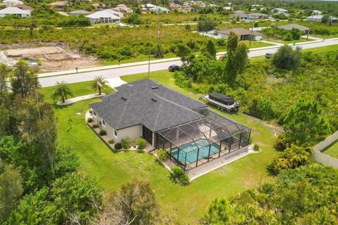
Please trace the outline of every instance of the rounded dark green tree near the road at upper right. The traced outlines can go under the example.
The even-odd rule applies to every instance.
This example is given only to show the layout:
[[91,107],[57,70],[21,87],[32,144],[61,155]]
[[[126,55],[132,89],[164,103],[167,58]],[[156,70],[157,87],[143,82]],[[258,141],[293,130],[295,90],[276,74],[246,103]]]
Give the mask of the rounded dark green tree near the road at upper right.
[[273,56],[273,65],[282,70],[296,70],[301,60],[301,51],[294,51],[291,46],[281,46]]

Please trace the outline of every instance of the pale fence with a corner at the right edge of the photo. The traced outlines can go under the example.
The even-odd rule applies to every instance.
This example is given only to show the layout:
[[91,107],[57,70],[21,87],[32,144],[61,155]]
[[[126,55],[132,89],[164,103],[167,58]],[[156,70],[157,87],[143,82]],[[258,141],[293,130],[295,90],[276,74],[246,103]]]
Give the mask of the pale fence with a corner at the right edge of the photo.
[[320,162],[325,165],[330,165],[332,167],[338,168],[338,159],[331,157],[330,155],[326,155],[321,151],[330,146],[330,144],[334,143],[334,141],[338,140],[338,131],[336,131],[331,136],[327,137],[324,141],[316,144],[313,147],[313,158],[315,162]]

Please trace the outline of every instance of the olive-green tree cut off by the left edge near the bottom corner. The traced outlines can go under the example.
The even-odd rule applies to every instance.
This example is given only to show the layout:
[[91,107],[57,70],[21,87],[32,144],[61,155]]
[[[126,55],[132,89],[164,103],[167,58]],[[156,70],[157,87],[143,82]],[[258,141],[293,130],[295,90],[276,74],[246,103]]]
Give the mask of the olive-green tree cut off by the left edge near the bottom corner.
[[11,215],[13,207],[23,193],[23,179],[20,169],[13,165],[6,165],[0,174],[0,224],[3,224]]

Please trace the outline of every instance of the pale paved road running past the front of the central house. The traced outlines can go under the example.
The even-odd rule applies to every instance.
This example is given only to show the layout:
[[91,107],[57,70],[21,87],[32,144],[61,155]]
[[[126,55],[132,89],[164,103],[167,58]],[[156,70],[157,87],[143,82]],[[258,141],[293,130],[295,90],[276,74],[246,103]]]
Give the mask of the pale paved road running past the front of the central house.
[[[303,44],[298,43],[296,46],[301,46],[302,49],[313,49],[323,46],[331,46],[338,44],[338,38],[336,39],[325,39],[325,41],[317,41],[317,42],[311,42],[309,44]],[[292,46],[292,44],[290,44]],[[294,46],[294,48],[296,47]],[[263,47],[260,49],[252,49],[249,52],[249,57],[256,57],[256,56],[264,56],[265,53],[275,53],[277,51],[279,46],[272,46],[272,47]],[[224,53],[218,53],[218,54],[224,54]],[[177,64],[180,65],[180,60],[175,60],[176,58],[173,58],[173,61],[165,62],[163,60],[163,63],[155,63],[151,64],[151,72],[158,71],[158,70],[166,70],[168,69],[169,65]],[[168,59],[167,59],[168,60]],[[143,62],[144,63],[144,62]],[[139,64],[142,64],[139,63]],[[55,77],[40,77],[39,82],[43,87],[46,86],[54,86],[56,85],[56,82],[61,82],[65,80],[65,82],[68,82],[70,84],[77,83],[77,82],[86,82],[94,79],[95,76],[101,75],[106,78],[113,78],[113,77],[120,77],[123,75],[133,75],[137,73],[142,72],[148,72],[148,65],[134,65],[130,67],[125,68],[118,68],[118,66],[115,66],[115,68],[108,69],[108,70],[99,70],[99,71],[91,71],[91,72],[82,72],[79,74],[71,74],[71,75],[60,75]],[[56,72],[54,75],[56,75],[58,72]],[[40,75],[39,75],[40,76]]]

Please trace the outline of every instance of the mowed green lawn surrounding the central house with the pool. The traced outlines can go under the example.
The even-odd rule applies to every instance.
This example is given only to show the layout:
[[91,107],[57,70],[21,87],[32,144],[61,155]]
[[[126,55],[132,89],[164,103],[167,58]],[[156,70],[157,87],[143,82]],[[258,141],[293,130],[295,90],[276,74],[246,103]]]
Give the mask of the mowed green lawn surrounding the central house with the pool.
[[[146,74],[123,77],[127,82],[143,79]],[[151,72],[151,79],[170,86],[182,94],[198,98],[199,96],[175,86],[173,74],[167,71]],[[72,84],[75,94],[90,94],[88,82]],[[54,87],[42,89],[46,96],[50,96]],[[51,101],[51,98],[47,98]],[[277,155],[273,149],[276,129],[242,113],[227,115],[253,129],[253,143],[258,143],[263,151],[253,153],[232,162],[220,169],[216,169],[192,181],[189,186],[173,184],[168,179],[168,170],[148,153],[113,152],[87,127],[84,113],[89,110],[89,104],[100,101],[91,99],[80,101],[65,107],[56,107],[58,120],[58,143],[60,146],[71,146],[80,158],[80,171],[89,174],[99,181],[99,186],[105,191],[118,191],[121,184],[131,179],[144,179],[151,182],[156,193],[156,199],[161,205],[163,214],[177,214],[187,224],[206,212],[208,203],[216,197],[230,197],[247,188],[258,186],[264,181],[270,181],[265,169],[265,163]],[[80,115],[78,114],[80,113]],[[73,121],[72,128],[68,124]]]

